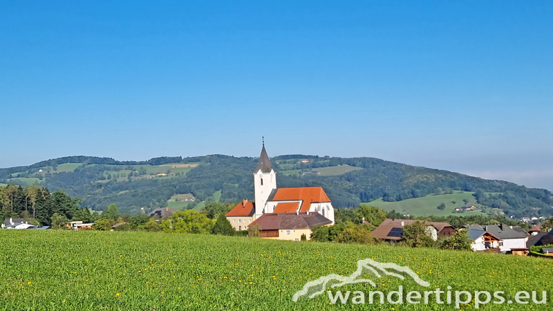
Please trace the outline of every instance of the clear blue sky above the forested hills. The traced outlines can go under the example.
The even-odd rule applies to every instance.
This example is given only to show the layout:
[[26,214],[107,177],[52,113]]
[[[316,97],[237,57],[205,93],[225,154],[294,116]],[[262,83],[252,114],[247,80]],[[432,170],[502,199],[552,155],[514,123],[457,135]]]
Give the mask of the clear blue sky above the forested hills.
[[264,135],[553,190],[552,1],[201,2],[2,1],[0,167]]

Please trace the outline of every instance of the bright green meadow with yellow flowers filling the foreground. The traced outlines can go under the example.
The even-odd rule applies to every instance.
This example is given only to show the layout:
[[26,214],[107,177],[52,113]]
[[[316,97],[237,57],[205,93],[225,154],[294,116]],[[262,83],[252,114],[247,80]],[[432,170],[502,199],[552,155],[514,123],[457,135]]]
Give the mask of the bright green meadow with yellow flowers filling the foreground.
[[[535,290],[541,299],[553,286],[548,258],[147,232],[0,230],[0,240],[2,310],[456,310],[434,296],[427,305],[368,305],[368,297],[367,305],[330,304],[326,293],[292,301],[306,282],[348,276],[365,258],[409,267],[430,285],[366,275],[376,288],[364,282],[340,290],[368,296],[400,285],[404,293],[451,286],[503,291],[507,299]],[[460,307],[474,310],[474,301]],[[552,310],[552,302],[479,310]]]

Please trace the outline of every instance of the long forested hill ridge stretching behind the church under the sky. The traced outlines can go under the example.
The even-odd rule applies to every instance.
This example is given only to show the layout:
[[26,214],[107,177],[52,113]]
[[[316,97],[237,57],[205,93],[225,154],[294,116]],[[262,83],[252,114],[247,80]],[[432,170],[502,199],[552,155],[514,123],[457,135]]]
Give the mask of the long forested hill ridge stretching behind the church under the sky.
[[[162,157],[140,162],[75,156],[0,169],[0,184],[37,183],[82,198],[82,206],[103,210],[115,203],[122,211],[136,214],[165,207],[176,194],[194,196],[196,201],[189,203],[191,207],[203,200],[252,199],[256,164],[256,158],[221,155]],[[324,187],[335,207],[357,207],[361,202],[379,198],[391,202],[473,191],[480,205],[502,209],[507,215],[553,214],[550,191],[512,182],[483,180],[375,158],[289,155],[272,158],[272,164],[278,173],[279,187]]]

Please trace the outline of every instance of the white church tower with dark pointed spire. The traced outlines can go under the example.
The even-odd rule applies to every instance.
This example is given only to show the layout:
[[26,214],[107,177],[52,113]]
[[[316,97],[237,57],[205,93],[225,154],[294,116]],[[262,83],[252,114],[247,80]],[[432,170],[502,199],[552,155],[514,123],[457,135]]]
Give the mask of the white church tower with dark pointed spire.
[[269,195],[274,189],[277,189],[277,173],[272,169],[271,161],[265,151],[265,141],[263,140],[263,149],[259,156],[259,163],[254,171],[255,188],[255,214],[256,218],[263,215],[263,209],[267,203]]

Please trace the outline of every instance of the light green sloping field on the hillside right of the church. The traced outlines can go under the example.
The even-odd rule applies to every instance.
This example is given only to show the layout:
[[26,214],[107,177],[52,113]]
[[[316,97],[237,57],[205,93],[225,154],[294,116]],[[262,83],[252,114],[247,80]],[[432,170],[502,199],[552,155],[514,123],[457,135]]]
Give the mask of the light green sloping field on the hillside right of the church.
[[[465,205],[465,202],[462,199],[469,200],[469,204],[476,205],[476,198],[472,196],[473,192],[465,192],[463,194],[443,194],[441,196],[425,196],[424,198],[412,198],[409,200],[402,200],[398,202],[384,202],[382,198],[368,202],[366,204],[377,206],[383,209],[384,211],[392,211],[395,209],[398,213],[401,214],[411,214],[413,216],[449,216],[449,215],[480,215],[479,211],[467,211],[465,213],[453,213],[455,207],[462,207]],[[453,204],[451,201],[456,201],[456,204]],[[445,204],[445,209],[440,211],[437,209],[440,203]]]

